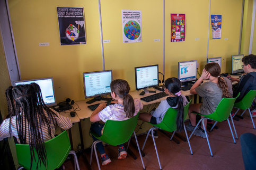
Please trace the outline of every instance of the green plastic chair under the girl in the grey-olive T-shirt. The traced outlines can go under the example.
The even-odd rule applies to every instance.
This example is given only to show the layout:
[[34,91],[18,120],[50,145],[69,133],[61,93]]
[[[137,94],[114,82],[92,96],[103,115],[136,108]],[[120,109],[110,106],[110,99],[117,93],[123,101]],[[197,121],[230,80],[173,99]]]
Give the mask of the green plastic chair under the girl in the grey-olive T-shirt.
[[[240,93],[237,95],[237,97],[239,97],[239,95],[240,95]],[[204,118],[201,118],[199,120],[199,122],[197,123],[197,126],[192,131],[191,135],[189,136],[189,139],[191,138],[191,136],[193,135],[193,133],[195,132],[195,130],[197,129],[197,127],[199,126],[201,121],[204,121],[205,119],[215,120],[216,122],[221,122],[221,121],[227,120],[229,129],[231,131],[231,134],[232,134],[232,137],[233,137],[233,140],[234,140],[234,143],[236,144],[234,134],[233,134],[230,122],[228,120],[228,117],[230,116],[231,120],[232,120],[232,124],[234,126],[233,118],[231,116],[231,111],[232,111],[232,108],[234,106],[236,98],[222,98],[222,100],[219,102],[215,112],[213,112],[210,115],[201,115],[197,112],[193,112],[193,114],[204,116]],[[216,125],[216,122],[215,122],[215,125]],[[207,130],[206,130],[205,124],[202,124],[202,125],[204,126],[204,129],[205,129],[205,135],[206,135],[207,143],[208,143],[208,146],[209,146],[209,149],[210,149],[210,155],[213,156],[213,153],[211,152],[210,143],[209,143],[209,139],[208,139],[208,136],[207,136]]]

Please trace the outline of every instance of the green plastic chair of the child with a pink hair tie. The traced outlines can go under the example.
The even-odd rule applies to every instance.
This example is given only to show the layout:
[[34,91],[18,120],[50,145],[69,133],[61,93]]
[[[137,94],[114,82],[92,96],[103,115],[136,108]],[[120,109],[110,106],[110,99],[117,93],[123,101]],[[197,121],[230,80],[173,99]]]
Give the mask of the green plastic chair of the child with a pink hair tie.
[[[188,138],[188,134],[187,134],[187,130],[186,130],[186,127],[185,127],[185,124],[184,124],[184,121],[185,121],[185,119],[186,119],[186,117],[188,115],[188,109],[189,109],[190,102],[191,102],[191,100],[189,101],[189,103],[186,106],[184,106],[183,127],[184,127],[184,131],[186,133],[187,140],[188,140],[188,143],[189,143],[189,148],[190,148],[191,155],[193,155],[192,149],[191,149],[191,146],[190,146],[190,142],[189,142],[189,138]],[[175,131],[177,130],[177,127],[176,127],[176,117],[177,117],[177,114],[178,114],[178,111],[176,109],[169,108],[166,111],[166,113],[164,115],[164,118],[163,118],[163,120],[161,121],[160,124],[151,124],[150,122],[148,122],[149,124],[153,125],[154,127],[152,127],[151,129],[148,130],[147,137],[146,137],[146,139],[144,141],[142,150],[145,147],[145,144],[146,144],[146,141],[147,141],[149,133],[151,133],[160,169],[162,169],[162,167],[161,167],[160,158],[158,156],[158,152],[157,152],[157,148],[156,148],[156,143],[155,143],[155,138],[154,138],[154,135],[153,135],[153,130],[154,129],[162,129],[162,130],[169,131],[169,132],[173,132],[174,131],[174,133],[175,133]],[[172,134],[172,137],[171,137],[170,140],[172,140],[174,133]]]

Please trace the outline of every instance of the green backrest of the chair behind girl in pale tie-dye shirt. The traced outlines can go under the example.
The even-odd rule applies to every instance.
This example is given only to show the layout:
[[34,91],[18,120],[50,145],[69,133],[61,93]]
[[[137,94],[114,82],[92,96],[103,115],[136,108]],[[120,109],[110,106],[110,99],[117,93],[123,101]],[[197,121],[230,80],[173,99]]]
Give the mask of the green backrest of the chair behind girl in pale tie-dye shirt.
[[126,143],[137,125],[139,112],[127,120],[107,120],[100,139],[107,144],[117,146]]

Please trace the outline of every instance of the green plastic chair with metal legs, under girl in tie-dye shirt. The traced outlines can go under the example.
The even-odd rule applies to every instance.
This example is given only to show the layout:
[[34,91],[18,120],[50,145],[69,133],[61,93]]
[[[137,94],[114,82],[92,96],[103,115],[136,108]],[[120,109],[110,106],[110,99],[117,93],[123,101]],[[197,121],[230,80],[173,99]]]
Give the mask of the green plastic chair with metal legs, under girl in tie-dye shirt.
[[[136,143],[137,143],[137,146],[138,146],[140,159],[142,159],[142,154],[140,153],[140,148],[139,148],[137,136],[136,136],[136,133],[134,131],[134,129],[137,125],[138,116],[139,116],[139,112],[136,116],[134,116],[130,119],[127,119],[127,120],[122,120],[122,121],[107,120],[105,122],[105,125],[104,125],[103,132],[102,132],[101,136],[99,136],[98,134],[90,131],[90,133],[95,138],[99,139],[99,140],[94,141],[93,144],[92,144],[90,165],[92,164],[92,154],[93,154],[93,149],[94,149],[98,167],[99,167],[99,169],[101,169],[99,159],[98,159],[98,156],[97,156],[96,144],[104,141],[104,143],[107,143],[109,145],[117,146],[117,145],[121,145],[123,143],[126,143],[129,140],[128,141],[128,146],[129,146],[130,138],[131,138],[131,135],[133,133],[134,133],[134,137],[136,139]],[[127,150],[128,150],[128,146],[127,146]],[[142,159],[142,165],[143,165],[143,169],[145,169],[143,159]]]

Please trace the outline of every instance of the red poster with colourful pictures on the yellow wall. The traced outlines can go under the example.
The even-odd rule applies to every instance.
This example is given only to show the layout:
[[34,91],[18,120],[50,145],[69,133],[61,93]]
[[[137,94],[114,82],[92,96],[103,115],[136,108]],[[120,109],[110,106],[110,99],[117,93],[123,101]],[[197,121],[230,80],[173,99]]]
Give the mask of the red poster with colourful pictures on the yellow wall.
[[171,14],[171,42],[185,41],[185,14]]

